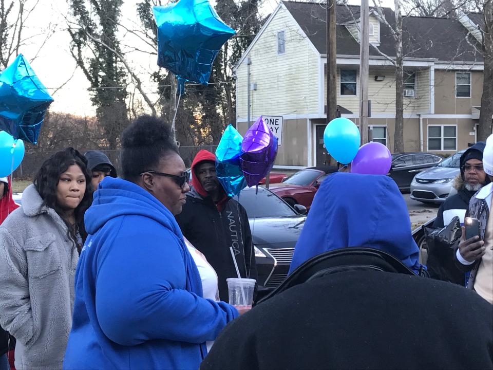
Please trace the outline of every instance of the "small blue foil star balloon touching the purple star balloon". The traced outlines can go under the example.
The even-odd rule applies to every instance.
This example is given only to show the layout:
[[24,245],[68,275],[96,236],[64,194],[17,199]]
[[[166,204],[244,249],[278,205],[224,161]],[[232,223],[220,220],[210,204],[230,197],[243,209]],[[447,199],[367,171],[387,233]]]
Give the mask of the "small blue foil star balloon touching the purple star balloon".
[[247,180],[240,168],[241,142],[240,133],[230,124],[216,149],[216,173],[226,194],[234,197],[247,186]]

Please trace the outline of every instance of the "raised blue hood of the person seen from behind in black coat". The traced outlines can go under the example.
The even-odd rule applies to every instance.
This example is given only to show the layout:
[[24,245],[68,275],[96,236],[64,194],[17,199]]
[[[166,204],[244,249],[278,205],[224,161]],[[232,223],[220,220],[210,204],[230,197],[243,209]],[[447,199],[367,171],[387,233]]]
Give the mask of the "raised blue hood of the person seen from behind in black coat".
[[289,273],[320,253],[347,247],[382,250],[419,272],[420,250],[412,238],[406,202],[390,177],[328,176],[313,199]]

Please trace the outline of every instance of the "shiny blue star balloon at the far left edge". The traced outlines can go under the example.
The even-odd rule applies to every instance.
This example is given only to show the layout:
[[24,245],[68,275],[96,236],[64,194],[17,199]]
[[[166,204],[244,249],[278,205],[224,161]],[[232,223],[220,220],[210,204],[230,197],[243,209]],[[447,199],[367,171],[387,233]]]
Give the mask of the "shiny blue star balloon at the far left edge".
[[0,130],[37,143],[53,98],[22,54],[0,73]]

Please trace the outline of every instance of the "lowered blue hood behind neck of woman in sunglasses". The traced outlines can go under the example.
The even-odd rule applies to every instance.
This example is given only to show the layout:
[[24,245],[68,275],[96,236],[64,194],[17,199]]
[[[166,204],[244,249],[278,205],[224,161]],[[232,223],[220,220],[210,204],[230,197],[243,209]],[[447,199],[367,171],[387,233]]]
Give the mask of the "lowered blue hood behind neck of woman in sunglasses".
[[156,197],[133,182],[105,177],[99,183],[92,205],[85,213],[86,231],[88,234],[96,234],[107,221],[124,215],[153,219],[183,239],[175,216]]

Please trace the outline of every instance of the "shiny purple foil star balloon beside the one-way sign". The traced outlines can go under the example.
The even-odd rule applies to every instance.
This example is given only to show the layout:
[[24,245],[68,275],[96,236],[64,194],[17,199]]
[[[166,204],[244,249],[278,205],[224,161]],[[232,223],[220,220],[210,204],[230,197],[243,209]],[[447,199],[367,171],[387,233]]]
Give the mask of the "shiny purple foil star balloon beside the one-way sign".
[[277,155],[277,138],[259,117],[247,130],[241,143],[240,167],[249,187],[266,177]]

